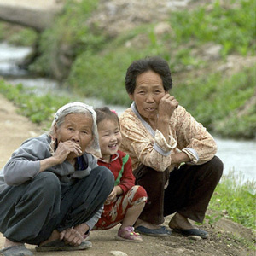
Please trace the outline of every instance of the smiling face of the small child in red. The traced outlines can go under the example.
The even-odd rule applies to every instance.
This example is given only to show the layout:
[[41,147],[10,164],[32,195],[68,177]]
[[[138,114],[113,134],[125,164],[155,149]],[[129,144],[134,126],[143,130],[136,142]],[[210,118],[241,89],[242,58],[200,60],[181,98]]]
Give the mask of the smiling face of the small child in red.
[[110,156],[117,153],[122,143],[119,125],[116,121],[104,119],[98,125],[102,159],[110,160]]

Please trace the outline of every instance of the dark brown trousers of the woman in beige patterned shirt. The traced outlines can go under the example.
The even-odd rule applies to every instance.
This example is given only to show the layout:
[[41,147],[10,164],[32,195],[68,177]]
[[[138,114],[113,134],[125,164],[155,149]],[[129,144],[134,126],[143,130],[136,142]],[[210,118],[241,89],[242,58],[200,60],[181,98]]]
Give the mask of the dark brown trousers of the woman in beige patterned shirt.
[[[170,174],[168,170],[157,172],[139,166],[134,171],[136,183],[148,193],[148,202],[139,218],[162,224],[165,216],[179,212],[201,223],[222,173],[223,163],[217,156],[203,165],[183,165]],[[169,185],[164,189],[168,180]]]

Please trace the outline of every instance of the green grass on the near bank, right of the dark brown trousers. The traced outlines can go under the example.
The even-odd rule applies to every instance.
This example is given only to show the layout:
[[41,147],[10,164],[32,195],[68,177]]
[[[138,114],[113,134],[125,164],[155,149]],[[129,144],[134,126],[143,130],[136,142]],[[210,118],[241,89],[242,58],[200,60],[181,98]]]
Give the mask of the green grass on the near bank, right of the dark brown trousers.
[[214,223],[224,216],[255,230],[255,201],[255,181],[244,181],[241,175],[230,172],[222,177],[210,201],[209,209],[218,213],[207,218]]

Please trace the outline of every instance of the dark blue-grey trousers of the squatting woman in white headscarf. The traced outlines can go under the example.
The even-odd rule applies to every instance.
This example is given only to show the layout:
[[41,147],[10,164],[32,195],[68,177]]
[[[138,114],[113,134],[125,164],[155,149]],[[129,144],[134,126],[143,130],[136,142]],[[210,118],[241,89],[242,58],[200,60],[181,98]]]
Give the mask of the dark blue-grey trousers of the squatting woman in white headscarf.
[[39,244],[53,230],[92,218],[113,189],[113,174],[98,166],[90,175],[61,184],[52,172],[0,193],[0,231],[11,241]]

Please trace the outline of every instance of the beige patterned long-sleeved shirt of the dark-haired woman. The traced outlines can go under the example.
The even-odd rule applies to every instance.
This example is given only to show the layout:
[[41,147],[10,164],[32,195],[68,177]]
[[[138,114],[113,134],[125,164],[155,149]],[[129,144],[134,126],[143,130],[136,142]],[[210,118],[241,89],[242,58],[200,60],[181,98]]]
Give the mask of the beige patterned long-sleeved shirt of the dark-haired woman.
[[132,169],[141,164],[163,172],[171,172],[171,154],[183,151],[189,155],[190,163],[201,165],[217,152],[217,145],[212,136],[185,110],[179,106],[170,119],[169,141],[163,134],[154,131],[137,112],[135,103],[120,115],[120,127],[123,136],[120,150],[130,154]]

